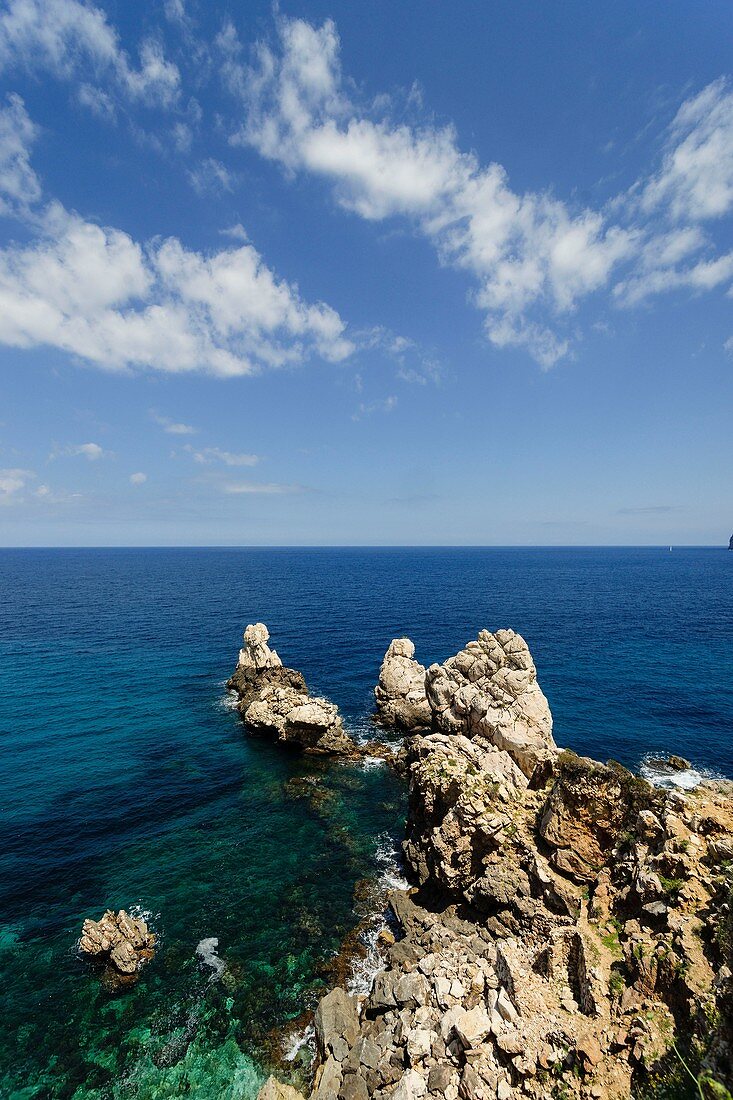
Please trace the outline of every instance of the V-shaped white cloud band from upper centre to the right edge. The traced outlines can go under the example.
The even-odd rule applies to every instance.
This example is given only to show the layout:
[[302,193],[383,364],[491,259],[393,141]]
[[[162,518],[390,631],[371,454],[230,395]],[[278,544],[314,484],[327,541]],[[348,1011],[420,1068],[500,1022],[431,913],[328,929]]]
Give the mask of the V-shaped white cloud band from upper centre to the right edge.
[[569,322],[588,296],[617,282],[616,301],[634,305],[727,277],[727,257],[712,254],[696,224],[733,208],[733,94],[724,81],[682,105],[655,176],[592,210],[513,190],[505,169],[461,150],[451,127],[395,121],[389,97],[360,106],[330,20],[278,16],[276,25],[277,47],[258,44],[251,66],[231,24],[217,40],[222,78],[244,109],[232,142],[322,177],[362,218],[409,218],[442,263],[473,277],[471,300],[494,345],[525,346],[549,367],[570,351]]

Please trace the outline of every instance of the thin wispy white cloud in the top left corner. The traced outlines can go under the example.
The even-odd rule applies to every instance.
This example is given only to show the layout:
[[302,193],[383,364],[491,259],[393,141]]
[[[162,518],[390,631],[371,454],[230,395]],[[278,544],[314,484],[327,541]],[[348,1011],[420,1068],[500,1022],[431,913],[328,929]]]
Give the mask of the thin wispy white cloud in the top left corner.
[[79,0],[9,0],[0,14],[0,70],[17,67],[66,80],[92,73],[151,106],[169,107],[180,85],[155,38],[142,42],[135,66],[105,12]]

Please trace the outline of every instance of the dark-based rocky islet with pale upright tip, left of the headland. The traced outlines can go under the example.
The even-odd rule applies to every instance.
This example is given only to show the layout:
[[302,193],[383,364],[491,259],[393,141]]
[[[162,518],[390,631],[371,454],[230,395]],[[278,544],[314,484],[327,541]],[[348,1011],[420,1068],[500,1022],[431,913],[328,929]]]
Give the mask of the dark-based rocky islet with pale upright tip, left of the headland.
[[269,639],[263,623],[248,626],[239,662],[227,682],[239,696],[237,710],[245,725],[305,752],[355,755],[358,746],[344,730],[336,704],[311,696],[303,674],[285,668]]

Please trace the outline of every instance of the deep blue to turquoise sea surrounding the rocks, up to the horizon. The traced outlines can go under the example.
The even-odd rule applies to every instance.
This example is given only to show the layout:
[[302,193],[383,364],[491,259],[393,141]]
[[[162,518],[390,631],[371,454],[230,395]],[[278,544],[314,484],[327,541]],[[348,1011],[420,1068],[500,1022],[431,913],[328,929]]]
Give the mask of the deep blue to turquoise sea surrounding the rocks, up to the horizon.
[[[733,774],[725,550],[0,551],[3,1098],[249,1100],[270,1031],[322,990],[404,792],[243,734],[222,682],[254,620],[362,734],[391,638],[429,663],[511,626],[559,744]],[[74,944],[134,904],[161,946],[113,996]]]

